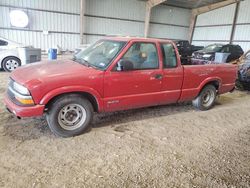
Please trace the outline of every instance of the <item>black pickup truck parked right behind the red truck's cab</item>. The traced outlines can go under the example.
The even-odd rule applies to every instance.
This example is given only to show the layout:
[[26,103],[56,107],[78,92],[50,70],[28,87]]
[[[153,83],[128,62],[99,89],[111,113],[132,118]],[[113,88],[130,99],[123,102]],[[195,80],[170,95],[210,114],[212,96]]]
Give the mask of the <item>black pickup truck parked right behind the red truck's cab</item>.
[[192,56],[195,51],[201,50],[204,46],[191,45],[188,40],[177,40],[175,44],[182,58]]

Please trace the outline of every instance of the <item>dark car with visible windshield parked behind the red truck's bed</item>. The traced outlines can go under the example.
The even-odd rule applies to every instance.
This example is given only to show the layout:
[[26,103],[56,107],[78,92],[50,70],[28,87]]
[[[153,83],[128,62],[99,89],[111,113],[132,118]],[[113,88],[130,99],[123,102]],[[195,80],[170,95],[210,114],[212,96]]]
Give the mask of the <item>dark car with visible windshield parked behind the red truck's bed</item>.
[[240,58],[244,51],[239,45],[234,44],[211,44],[206,46],[204,49],[193,53],[192,58],[201,59],[205,61],[214,61],[216,53],[228,53],[226,62],[234,61]]

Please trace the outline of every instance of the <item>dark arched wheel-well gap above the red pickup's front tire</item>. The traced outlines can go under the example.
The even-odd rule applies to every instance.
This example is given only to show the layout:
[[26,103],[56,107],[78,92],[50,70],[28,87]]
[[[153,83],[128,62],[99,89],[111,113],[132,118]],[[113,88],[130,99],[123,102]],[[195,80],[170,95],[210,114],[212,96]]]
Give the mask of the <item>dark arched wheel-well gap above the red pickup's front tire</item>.
[[48,103],[45,105],[45,109],[48,109],[50,107],[50,105],[56,100],[58,99],[59,97],[64,97],[66,95],[70,95],[70,94],[78,94],[82,97],[85,97],[86,99],[89,100],[89,102],[92,104],[93,108],[94,108],[94,111],[95,112],[98,112],[98,103],[97,103],[97,100],[96,98],[91,95],[90,93],[87,93],[87,92],[70,92],[70,93],[63,93],[63,94],[60,94],[60,95],[57,95],[57,96],[54,96],[52,99],[50,99],[48,101]]

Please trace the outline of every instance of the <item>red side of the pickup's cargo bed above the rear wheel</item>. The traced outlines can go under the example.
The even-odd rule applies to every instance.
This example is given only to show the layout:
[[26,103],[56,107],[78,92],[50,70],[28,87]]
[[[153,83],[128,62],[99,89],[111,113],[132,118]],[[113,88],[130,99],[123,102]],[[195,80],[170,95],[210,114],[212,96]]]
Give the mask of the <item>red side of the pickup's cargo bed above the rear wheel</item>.
[[[183,85],[180,101],[192,100],[208,82],[218,83],[218,94],[235,87],[237,66],[231,64],[184,65]],[[234,76],[232,76],[234,75]]]

